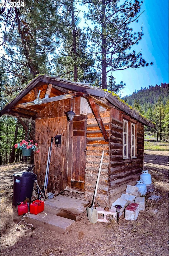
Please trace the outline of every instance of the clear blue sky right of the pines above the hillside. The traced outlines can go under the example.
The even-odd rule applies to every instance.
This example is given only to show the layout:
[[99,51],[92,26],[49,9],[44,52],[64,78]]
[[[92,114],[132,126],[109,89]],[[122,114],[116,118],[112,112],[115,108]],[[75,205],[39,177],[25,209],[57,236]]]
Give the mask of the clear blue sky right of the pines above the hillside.
[[168,83],[168,0],[145,0],[141,12],[139,22],[133,24],[132,28],[133,32],[138,32],[143,25],[144,36],[133,49],[136,53],[141,50],[145,61],[153,62],[153,65],[135,70],[128,68],[112,74],[116,83],[126,83],[121,91],[122,97],[141,87]]

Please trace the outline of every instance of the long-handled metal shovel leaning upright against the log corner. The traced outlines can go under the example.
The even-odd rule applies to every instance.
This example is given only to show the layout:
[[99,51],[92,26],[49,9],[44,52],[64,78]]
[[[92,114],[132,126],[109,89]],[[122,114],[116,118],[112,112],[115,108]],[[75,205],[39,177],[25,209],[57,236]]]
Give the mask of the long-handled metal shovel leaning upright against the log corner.
[[90,223],[92,223],[92,224],[95,224],[97,222],[97,220],[98,220],[97,210],[93,209],[93,207],[95,205],[95,199],[96,199],[96,195],[97,195],[97,188],[98,188],[98,182],[99,182],[99,178],[100,178],[100,172],[101,172],[103,156],[104,156],[104,151],[102,152],[101,161],[100,161],[100,167],[99,167],[99,170],[98,170],[97,181],[96,181],[96,188],[95,188],[95,193],[94,193],[94,197],[93,197],[93,203],[92,203],[92,206],[90,208],[87,207],[87,217],[88,217],[88,220],[90,221]]

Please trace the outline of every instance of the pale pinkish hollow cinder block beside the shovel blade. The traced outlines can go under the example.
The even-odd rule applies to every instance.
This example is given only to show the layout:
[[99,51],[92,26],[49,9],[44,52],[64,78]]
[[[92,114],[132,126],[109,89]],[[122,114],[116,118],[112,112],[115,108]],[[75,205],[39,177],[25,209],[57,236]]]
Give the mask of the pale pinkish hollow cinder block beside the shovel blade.
[[117,219],[117,212],[116,208],[110,209],[110,211],[105,211],[104,208],[96,207],[97,214],[98,214],[98,222],[106,222],[109,223],[109,217],[110,215],[113,216],[113,219]]

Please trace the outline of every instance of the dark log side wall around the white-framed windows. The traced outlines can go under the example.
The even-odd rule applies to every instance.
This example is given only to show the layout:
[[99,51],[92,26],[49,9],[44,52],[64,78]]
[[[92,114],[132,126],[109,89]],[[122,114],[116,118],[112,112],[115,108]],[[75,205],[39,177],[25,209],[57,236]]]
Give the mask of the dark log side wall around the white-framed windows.
[[[143,169],[144,126],[122,111],[111,108],[110,111],[110,205],[122,193],[127,184],[135,185]],[[123,159],[123,119],[128,121],[128,158]],[[131,123],[135,124],[135,156],[131,158]]]

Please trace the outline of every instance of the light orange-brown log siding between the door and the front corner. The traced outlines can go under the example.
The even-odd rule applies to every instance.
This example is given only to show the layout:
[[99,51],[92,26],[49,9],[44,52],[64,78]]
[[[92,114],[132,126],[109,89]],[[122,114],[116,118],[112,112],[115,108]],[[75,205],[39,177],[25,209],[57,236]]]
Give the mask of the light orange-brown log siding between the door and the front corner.
[[[100,112],[107,135],[110,136],[110,111]],[[102,151],[104,158],[98,184],[96,202],[109,204],[109,142],[105,142],[94,115],[87,115],[85,200],[92,201],[96,186]]]

